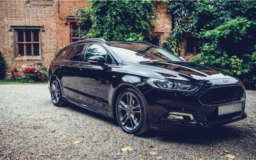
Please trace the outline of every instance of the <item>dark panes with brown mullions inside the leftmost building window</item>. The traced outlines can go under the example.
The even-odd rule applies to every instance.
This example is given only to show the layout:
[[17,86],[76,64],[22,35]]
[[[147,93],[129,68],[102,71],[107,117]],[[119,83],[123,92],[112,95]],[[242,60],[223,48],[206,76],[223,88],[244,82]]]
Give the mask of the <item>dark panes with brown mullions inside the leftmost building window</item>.
[[16,56],[39,56],[39,30],[17,30],[16,31]]

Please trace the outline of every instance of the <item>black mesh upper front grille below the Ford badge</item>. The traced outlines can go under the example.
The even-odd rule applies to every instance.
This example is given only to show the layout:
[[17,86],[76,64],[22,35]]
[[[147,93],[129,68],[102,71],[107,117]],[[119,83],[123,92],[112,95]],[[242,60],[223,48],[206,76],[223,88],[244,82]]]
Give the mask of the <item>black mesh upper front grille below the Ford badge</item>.
[[204,105],[218,105],[239,101],[243,97],[244,89],[239,85],[211,88],[204,92],[199,100]]

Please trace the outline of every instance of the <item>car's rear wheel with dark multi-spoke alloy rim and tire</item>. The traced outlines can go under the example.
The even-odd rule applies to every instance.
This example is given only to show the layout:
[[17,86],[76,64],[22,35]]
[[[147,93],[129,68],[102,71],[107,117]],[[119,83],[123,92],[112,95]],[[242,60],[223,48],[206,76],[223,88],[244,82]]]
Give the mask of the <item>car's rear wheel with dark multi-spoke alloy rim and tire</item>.
[[62,107],[67,104],[67,101],[62,99],[62,92],[57,79],[54,79],[51,83],[51,98],[55,106]]

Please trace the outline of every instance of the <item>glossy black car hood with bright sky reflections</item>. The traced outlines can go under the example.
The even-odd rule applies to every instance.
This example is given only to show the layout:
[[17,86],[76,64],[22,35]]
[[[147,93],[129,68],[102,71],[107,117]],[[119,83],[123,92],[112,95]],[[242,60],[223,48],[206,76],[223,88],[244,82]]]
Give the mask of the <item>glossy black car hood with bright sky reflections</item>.
[[[143,62],[140,64],[129,64],[129,67],[141,68],[154,71],[165,78],[180,79],[180,80],[212,80],[224,78],[237,78],[234,75],[209,66],[199,65],[190,62]],[[156,77],[158,78],[158,77]]]

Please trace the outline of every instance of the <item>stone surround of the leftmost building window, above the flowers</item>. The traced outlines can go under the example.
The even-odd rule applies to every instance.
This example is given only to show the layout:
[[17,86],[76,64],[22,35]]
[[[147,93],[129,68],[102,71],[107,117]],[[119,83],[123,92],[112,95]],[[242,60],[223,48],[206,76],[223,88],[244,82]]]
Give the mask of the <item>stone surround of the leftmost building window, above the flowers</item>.
[[[39,36],[39,56],[18,56],[17,53],[17,37],[16,32],[18,30],[39,30],[38,36]],[[23,25],[11,25],[10,30],[12,32],[12,58],[11,60],[15,61],[24,61],[24,60],[44,60],[43,57],[43,43],[42,43],[42,32],[44,31],[43,26],[23,26]],[[25,48],[24,48],[25,49]]]

